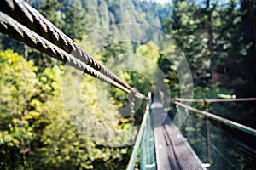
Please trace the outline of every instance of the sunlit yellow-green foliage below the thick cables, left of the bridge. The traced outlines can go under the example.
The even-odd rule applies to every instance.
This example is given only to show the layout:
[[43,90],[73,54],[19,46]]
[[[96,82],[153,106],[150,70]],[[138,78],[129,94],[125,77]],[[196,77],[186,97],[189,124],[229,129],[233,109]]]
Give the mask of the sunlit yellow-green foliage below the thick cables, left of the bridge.
[[[122,166],[126,163],[122,162],[128,161],[124,156],[130,148],[114,149],[104,144],[123,144],[125,140],[134,138],[136,129],[125,127],[126,130],[122,130],[118,125],[119,118],[115,118],[118,115],[106,115],[96,98],[88,99],[88,96],[96,96],[96,91],[82,94],[86,110],[82,108],[77,112],[76,106],[67,110],[66,103],[66,113],[63,111],[63,99],[66,98],[61,96],[64,76],[61,67],[46,68],[37,76],[37,68],[32,61],[27,62],[11,50],[1,52],[0,57],[0,93],[4,96],[0,100],[1,168],[124,168]],[[73,76],[71,72],[65,74],[67,79],[74,79]],[[81,86],[84,92],[88,92],[95,86],[94,79],[90,78],[90,85],[86,83],[88,77],[84,78]],[[73,98],[72,90],[65,93],[68,99]],[[72,104],[72,101],[68,103]],[[118,111],[115,114],[119,114]],[[74,116],[88,122],[78,124]],[[105,122],[104,125],[101,122]],[[83,131],[81,126],[88,128]],[[119,130],[112,134],[114,128]],[[105,133],[102,129],[106,129]],[[110,135],[102,141],[106,133]]]

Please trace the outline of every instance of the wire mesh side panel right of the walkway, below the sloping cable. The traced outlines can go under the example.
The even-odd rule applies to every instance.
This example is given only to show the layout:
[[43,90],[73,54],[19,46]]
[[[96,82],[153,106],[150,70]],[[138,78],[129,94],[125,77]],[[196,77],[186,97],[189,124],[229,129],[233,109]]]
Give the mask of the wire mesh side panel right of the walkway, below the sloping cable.
[[[234,131],[222,122],[198,113],[191,113],[180,130],[201,159],[203,166],[208,169],[256,167],[256,150],[248,146],[245,141],[238,139],[234,133],[230,133]],[[243,133],[239,132],[241,135]],[[249,135],[252,141],[255,139],[253,134],[243,135]]]

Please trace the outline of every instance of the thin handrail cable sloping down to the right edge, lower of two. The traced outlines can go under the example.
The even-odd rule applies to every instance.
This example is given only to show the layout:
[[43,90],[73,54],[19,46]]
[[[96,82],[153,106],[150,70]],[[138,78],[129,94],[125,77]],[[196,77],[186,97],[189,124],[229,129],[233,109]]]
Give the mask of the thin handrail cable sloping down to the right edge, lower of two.
[[190,105],[185,105],[185,104],[183,104],[181,102],[178,102],[178,101],[175,101],[174,104],[179,105],[179,106],[181,106],[185,109],[188,109],[190,111],[195,111],[195,112],[200,113],[201,115],[207,116],[207,117],[209,117],[209,118],[211,118],[215,121],[222,122],[222,123],[224,123],[224,124],[226,124],[230,127],[235,127],[236,129],[239,129],[243,132],[250,133],[250,134],[253,134],[254,136],[256,136],[256,129],[253,129],[252,127],[247,127],[247,126],[242,125],[238,122],[230,121],[230,120],[228,120],[224,117],[217,116],[217,115],[215,115],[213,113],[210,113],[208,111],[201,111],[199,109],[196,109],[195,107],[192,107]]

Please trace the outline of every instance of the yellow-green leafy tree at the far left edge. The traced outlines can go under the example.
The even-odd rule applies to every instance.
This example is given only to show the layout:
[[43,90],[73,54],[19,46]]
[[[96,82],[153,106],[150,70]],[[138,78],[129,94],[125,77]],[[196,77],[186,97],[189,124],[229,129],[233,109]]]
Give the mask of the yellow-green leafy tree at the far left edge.
[[21,168],[26,166],[26,154],[36,135],[32,122],[42,114],[30,109],[38,94],[37,68],[11,50],[1,51],[0,60],[1,167]]

